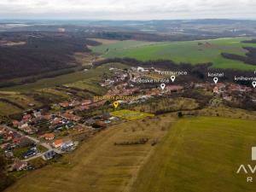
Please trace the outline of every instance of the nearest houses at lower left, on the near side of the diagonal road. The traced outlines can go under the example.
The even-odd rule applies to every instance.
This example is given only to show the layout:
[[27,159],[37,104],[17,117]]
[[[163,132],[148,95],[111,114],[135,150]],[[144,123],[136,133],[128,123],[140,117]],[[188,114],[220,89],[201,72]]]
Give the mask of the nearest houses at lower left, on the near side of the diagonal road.
[[[0,125],[0,148],[4,151],[5,157],[13,161],[9,166],[9,171],[21,171],[32,169],[26,159],[38,155],[43,160],[51,160],[58,153],[73,151],[78,146],[78,142],[72,140],[55,139],[54,133],[45,133],[41,136],[45,142],[49,142],[52,149],[46,152],[38,150],[37,145],[29,138],[21,136],[17,131],[10,131],[6,126]],[[26,148],[20,156],[15,156],[14,151],[19,148]]]

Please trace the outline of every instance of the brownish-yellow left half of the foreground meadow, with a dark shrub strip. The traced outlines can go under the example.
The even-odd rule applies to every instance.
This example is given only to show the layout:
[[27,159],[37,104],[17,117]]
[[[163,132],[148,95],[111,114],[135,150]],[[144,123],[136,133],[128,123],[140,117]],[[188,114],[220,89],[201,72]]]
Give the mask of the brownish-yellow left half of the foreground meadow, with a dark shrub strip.
[[[154,152],[155,146],[151,143],[166,135],[173,120],[154,117],[113,125],[82,143],[73,153],[65,154],[59,163],[21,177],[6,191],[129,191],[139,167]],[[140,138],[149,138],[149,141],[142,145],[114,145]]]

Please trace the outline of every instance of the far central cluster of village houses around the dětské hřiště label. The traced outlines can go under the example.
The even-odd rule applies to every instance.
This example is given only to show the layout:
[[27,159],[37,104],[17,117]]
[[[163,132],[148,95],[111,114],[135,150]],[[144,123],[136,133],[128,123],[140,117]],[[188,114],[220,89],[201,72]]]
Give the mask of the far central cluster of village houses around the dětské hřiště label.
[[[165,90],[161,90],[159,87],[142,89],[140,84],[137,84],[137,79],[142,79],[145,74],[148,73],[158,73],[159,71],[154,69],[154,67],[143,68],[143,67],[131,67],[128,70],[121,70],[118,68],[110,68],[114,73],[113,79],[104,79],[101,83],[102,87],[106,87],[108,92],[103,97],[111,96],[134,96],[128,101],[118,100],[120,103],[140,103],[146,102],[149,98],[154,96],[163,96],[172,94],[173,92],[182,91],[183,86],[180,85],[166,85]],[[107,100],[102,100],[102,104],[107,102]]]

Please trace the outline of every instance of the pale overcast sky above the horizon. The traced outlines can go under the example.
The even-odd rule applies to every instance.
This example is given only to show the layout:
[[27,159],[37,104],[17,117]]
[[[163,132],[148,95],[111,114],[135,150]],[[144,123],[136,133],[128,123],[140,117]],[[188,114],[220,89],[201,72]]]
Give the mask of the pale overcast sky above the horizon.
[[256,19],[256,0],[0,0],[0,19]]

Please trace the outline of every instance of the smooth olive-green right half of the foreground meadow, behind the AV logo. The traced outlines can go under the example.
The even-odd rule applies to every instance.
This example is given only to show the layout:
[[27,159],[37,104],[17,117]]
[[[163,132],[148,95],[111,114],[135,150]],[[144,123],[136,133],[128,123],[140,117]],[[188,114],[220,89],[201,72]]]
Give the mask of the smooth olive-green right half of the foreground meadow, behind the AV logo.
[[254,191],[256,183],[236,174],[241,164],[253,164],[254,128],[252,120],[179,120],[143,166],[131,191]]

